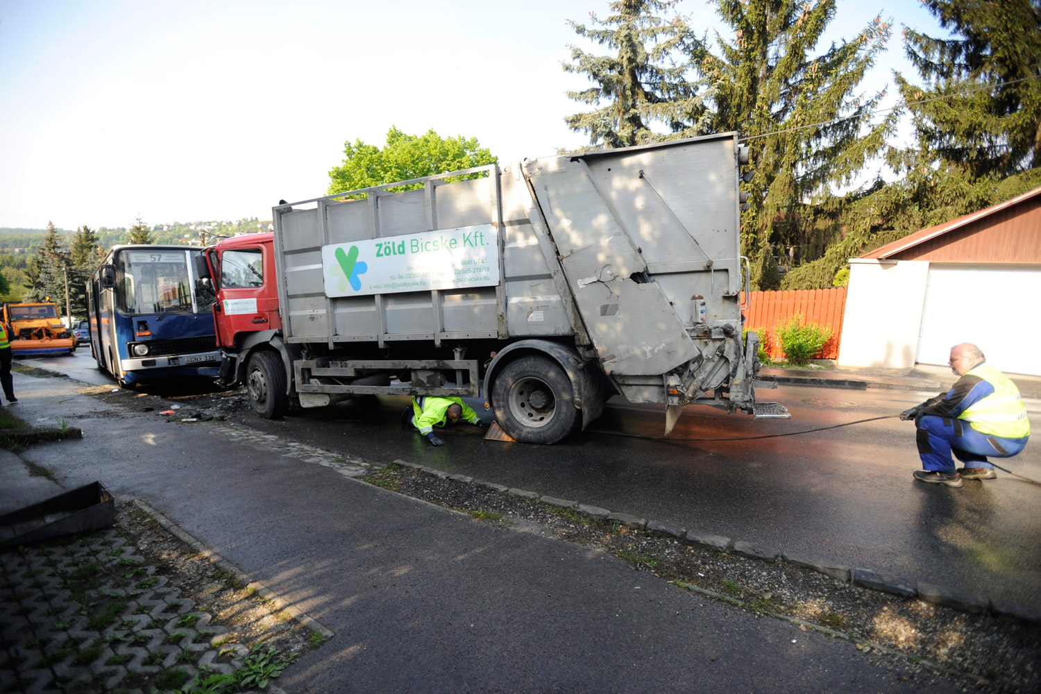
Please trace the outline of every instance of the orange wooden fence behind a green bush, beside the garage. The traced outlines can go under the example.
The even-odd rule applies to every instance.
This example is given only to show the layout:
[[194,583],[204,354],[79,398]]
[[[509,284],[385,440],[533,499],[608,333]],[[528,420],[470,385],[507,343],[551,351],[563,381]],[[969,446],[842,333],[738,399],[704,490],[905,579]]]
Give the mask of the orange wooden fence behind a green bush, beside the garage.
[[[833,289],[797,289],[789,291],[753,291],[752,307],[744,312],[744,329],[759,333],[770,357],[783,357],[777,327],[801,316],[804,324],[815,323],[832,331],[832,337],[814,357],[838,359],[842,335],[842,313],[845,310],[845,287]],[[744,294],[741,294],[742,303]]]

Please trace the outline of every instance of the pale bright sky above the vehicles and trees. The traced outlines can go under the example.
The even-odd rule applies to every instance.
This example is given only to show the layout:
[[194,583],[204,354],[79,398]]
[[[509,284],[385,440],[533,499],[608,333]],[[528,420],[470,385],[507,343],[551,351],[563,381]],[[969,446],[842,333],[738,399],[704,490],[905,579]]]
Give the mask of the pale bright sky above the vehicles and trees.
[[[723,30],[704,0],[677,9]],[[0,0],[0,227],[270,220],[391,125],[501,164],[580,148],[566,92],[589,82],[561,62],[590,10],[607,0]],[[917,0],[838,0],[826,40],[877,14],[895,27],[866,94],[916,77],[902,24],[941,34]]]

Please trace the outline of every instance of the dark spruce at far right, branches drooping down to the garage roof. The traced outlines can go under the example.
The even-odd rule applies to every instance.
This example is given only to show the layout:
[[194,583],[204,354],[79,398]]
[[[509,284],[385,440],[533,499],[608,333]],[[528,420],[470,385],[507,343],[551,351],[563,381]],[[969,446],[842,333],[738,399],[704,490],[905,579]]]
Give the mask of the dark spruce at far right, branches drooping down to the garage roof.
[[896,75],[916,130],[915,146],[888,155],[903,177],[848,196],[842,240],[786,275],[785,289],[826,286],[849,257],[1041,185],[1039,3],[925,4],[956,35],[905,27],[907,53],[929,86]]

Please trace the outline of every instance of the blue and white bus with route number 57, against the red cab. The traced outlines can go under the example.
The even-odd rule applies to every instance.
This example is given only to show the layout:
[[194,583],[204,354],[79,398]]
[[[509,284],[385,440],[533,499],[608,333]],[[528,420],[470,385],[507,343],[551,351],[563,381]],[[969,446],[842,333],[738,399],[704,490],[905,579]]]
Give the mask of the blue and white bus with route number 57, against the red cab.
[[212,292],[197,290],[197,246],[115,246],[86,286],[91,354],[121,386],[217,376]]

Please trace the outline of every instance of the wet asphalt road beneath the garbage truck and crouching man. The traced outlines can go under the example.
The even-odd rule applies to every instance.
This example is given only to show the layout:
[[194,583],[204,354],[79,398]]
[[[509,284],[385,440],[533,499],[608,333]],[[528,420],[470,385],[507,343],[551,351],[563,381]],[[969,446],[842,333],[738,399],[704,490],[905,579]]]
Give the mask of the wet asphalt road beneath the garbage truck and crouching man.
[[[102,377],[85,351],[26,363],[32,361],[91,383]],[[80,362],[90,363],[82,367]],[[157,390],[172,394],[169,385]],[[759,397],[784,404],[791,419],[754,420],[690,407],[670,437],[798,432],[894,414],[934,394],[781,387],[760,391]],[[1001,472],[994,481],[967,481],[961,489],[913,482],[911,472],[919,464],[911,422],[892,418],[813,434],[715,442],[586,431],[554,446],[485,441],[476,428],[462,425],[446,431],[448,445],[435,448],[398,423],[405,403],[360,399],[283,420],[260,419],[251,411],[240,418],[264,432],[376,462],[421,462],[1041,609],[1041,488]],[[1041,403],[1027,401],[1027,408],[1041,422]],[[592,428],[660,436],[663,420],[659,408],[615,404]],[[1036,444],[996,462],[1041,480]]]

